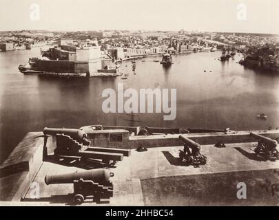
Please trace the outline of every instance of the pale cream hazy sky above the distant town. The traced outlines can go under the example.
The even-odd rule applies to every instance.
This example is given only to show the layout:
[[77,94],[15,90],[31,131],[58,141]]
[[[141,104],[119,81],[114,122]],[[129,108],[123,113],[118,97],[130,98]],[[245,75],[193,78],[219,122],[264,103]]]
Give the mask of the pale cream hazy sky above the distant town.
[[[0,0],[0,30],[201,30],[279,34],[278,0]],[[39,20],[30,5],[40,6]],[[247,19],[238,20],[245,3]]]

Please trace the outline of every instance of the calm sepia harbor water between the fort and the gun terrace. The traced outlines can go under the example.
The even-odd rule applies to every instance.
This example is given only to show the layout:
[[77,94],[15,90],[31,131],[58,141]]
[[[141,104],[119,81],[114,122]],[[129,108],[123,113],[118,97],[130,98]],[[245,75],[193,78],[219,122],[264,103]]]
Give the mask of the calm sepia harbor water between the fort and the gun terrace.
[[[194,129],[263,130],[279,127],[279,74],[238,64],[236,54],[220,62],[220,52],[174,55],[170,67],[161,56],[124,61],[121,77],[53,78],[23,75],[17,69],[40,50],[0,52],[0,163],[29,131],[90,124],[165,126]],[[165,113],[104,113],[106,88],[176,89],[176,119]],[[138,92],[139,94],[139,92]],[[265,113],[267,119],[258,114]]]

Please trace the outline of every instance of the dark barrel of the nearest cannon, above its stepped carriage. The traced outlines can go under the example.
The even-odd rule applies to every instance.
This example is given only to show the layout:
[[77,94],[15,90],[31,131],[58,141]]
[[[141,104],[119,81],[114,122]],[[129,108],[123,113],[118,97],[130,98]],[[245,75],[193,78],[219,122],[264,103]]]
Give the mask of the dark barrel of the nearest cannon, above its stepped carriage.
[[113,177],[114,173],[111,173],[107,169],[87,170],[82,172],[66,173],[61,175],[46,175],[45,184],[72,184],[74,180],[92,180],[97,183],[104,183],[109,181],[110,177]]

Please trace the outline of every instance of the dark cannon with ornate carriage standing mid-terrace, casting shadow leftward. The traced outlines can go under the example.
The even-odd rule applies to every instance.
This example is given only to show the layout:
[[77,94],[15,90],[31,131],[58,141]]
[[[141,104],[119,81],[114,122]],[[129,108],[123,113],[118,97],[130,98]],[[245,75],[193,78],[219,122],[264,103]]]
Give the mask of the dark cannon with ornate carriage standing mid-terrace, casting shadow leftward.
[[178,139],[184,142],[183,151],[179,151],[181,163],[185,163],[187,166],[193,165],[194,167],[206,164],[207,157],[200,153],[200,144],[183,135],[179,135]]

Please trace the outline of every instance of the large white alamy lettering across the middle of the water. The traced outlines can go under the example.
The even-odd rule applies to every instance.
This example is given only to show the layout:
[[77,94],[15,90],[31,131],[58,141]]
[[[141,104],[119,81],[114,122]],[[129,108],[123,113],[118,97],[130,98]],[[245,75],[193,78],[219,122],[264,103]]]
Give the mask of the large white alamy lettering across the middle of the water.
[[176,119],[176,89],[139,89],[138,94],[118,83],[117,91],[104,89],[102,97],[104,113],[165,113],[164,120]]

